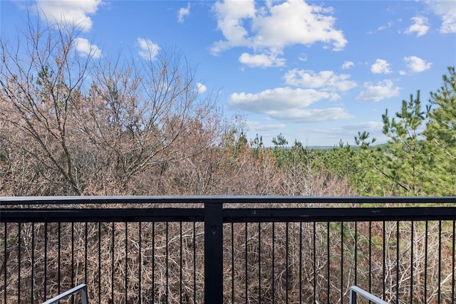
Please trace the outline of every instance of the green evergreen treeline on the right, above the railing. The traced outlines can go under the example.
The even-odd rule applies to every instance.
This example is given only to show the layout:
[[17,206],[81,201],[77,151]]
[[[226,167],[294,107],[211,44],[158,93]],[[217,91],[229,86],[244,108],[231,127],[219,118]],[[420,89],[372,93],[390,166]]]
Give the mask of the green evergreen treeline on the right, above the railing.
[[[382,115],[389,140],[374,145],[366,131],[358,132],[356,146],[339,142],[328,150],[311,150],[301,142],[286,148],[274,137],[276,166],[292,168],[308,163],[316,172],[348,181],[363,196],[454,196],[456,194],[456,73],[448,67],[442,86],[423,104],[420,91],[403,100],[400,110]],[[261,141],[261,139],[260,139]],[[258,142],[258,139],[254,140]],[[257,151],[254,151],[257,154]]]

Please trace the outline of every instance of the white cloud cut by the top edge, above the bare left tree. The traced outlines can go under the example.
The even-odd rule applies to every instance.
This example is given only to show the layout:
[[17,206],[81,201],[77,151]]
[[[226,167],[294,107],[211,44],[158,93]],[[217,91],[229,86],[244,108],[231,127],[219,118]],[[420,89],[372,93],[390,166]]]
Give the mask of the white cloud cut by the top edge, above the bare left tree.
[[56,23],[76,25],[83,31],[90,31],[93,15],[98,6],[103,4],[101,0],[83,1],[49,1],[36,0],[36,9],[41,19],[49,19]]

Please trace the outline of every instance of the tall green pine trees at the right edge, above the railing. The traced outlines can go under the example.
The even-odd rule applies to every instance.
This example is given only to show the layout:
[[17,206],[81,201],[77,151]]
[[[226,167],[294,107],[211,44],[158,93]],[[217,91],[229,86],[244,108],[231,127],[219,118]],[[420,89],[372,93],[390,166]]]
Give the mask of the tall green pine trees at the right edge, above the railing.
[[369,195],[455,195],[456,73],[448,68],[443,85],[430,93],[422,110],[420,91],[403,100],[394,117],[385,110],[386,145],[371,147],[367,132],[358,132],[355,174],[358,191]]

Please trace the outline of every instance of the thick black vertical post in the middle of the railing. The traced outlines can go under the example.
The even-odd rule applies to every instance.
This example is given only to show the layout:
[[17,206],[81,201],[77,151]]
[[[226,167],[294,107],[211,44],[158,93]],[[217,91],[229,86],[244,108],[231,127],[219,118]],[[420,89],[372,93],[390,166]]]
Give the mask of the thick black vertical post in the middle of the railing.
[[223,303],[223,204],[204,204],[204,303]]

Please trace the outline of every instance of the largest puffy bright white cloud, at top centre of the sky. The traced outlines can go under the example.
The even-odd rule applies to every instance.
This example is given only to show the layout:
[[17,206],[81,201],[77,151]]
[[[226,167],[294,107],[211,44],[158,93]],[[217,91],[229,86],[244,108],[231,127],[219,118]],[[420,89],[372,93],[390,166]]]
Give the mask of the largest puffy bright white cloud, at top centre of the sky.
[[276,5],[266,1],[264,6],[260,5],[257,3],[256,9],[252,0],[217,1],[214,4],[217,28],[225,40],[214,43],[212,52],[217,54],[229,48],[246,46],[257,53],[267,51],[274,54],[281,53],[286,46],[311,46],[316,42],[332,44],[334,51],[346,46],[343,32],[334,28],[336,19],[331,16],[331,9],[309,5],[302,0]]

